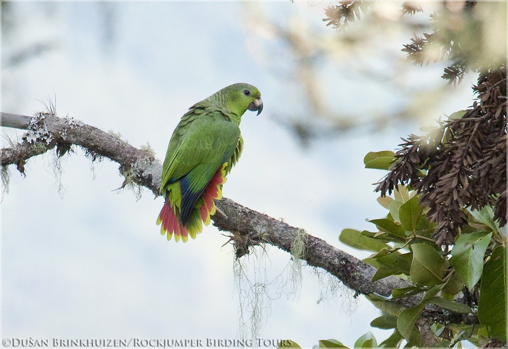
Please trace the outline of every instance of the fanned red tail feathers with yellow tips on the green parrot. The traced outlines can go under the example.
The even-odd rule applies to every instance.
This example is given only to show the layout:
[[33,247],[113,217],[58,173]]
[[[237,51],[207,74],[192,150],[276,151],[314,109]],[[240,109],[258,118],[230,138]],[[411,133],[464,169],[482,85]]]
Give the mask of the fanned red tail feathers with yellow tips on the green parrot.
[[210,224],[210,216],[216,210],[213,200],[222,198],[222,186],[226,182],[227,165],[228,163],[224,163],[220,166],[210,179],[185,225],[179,219],[179,208],[171,203],[168,195],[161,213],[157,217],[157,226],[161,225],[161,235],[167,234],[168,241],[173,237],[173,233],[176,242],[180,239],[187,242],[189,235],[195,239],[196,235],[203,231],[203,223],[205,226]]

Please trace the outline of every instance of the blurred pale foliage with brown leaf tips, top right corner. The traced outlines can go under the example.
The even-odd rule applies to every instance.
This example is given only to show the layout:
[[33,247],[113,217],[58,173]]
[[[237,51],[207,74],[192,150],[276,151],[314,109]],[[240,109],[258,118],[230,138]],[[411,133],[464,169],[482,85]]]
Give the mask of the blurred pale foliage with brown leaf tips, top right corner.
[[[323,21],[333,28],[344,29],[355,19],[360,19],[362,12],[368,13],[370,7],[372,2],[341,1],[339,5],[327,8]],[[421,3],[404,2],[401,15],[422,11]],[[488,23],[482,14],[489,11],[495,12],[495,5],[476,1],[443,2],[430,15],[432,33],[415,34],[408,44],[403,45],[402,51],[419,65],[450,60],[451,64],[444,68],[441,77],[453,84],[462,81],[469,71],[495,70],[506,60],[506,55],[491,52],[486,43],[490,39],[486,29]]]

